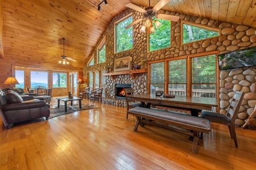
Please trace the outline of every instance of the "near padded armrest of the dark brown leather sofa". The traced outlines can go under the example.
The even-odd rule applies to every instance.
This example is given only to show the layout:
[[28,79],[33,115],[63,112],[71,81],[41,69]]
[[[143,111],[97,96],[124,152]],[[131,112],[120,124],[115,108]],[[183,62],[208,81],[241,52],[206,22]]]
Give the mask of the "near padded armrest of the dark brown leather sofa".
[[32,108],[39,108],[39,107],[46,107],[46,103],[44,101],[32,101],[27,103],[13,103],[13,104],[6,104],[2,106],[3,111],[14,111],[14,110],[21,110],[21,109],[32,109]]

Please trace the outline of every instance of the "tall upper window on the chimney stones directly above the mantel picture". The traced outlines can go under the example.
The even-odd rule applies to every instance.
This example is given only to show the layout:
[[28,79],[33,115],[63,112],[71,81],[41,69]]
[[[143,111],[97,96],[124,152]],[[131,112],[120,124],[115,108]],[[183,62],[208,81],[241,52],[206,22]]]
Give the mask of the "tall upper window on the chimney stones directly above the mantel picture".
[[125,28],[131,22],[133,17],[129,15],[115,23],[115,53],[133,48],[133,27]]

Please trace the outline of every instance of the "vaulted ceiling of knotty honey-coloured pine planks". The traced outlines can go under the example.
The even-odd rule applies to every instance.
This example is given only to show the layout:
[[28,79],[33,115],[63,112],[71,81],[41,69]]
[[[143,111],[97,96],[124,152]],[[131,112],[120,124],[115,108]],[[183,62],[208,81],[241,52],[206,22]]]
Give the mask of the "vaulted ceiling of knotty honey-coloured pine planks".
[[[148,0],[107,1],[98,11],[100,0],[1,0],[1,57],[19,65],[58,66],[65,37],[65,56],[77,61],[71,66],[83,67],[126,3],[149,5]],[[157,2],[151,0],[150,6]],[[256,27],[256,0],[171,0],[163,10]]]

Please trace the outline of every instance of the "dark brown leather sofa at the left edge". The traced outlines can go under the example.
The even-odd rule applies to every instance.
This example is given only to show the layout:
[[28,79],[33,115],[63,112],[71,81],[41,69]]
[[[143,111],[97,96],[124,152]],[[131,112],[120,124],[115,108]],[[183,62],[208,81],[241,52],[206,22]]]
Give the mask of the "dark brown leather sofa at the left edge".
[[[24,101],[24,100],[25,101]],[[0,91],[0,116],[3,124],[9,129],[13,124],[36,118],[48,120],[50,111],[46,102],[34,99],[33,96],[20,96],[14,91]]]

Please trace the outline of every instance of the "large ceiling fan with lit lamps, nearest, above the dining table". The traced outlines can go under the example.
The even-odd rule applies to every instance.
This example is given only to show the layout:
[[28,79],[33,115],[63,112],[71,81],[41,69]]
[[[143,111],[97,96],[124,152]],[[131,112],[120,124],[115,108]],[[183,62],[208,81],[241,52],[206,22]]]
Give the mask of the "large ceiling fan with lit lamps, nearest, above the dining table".
[[[142,25],[142,28],[140,29],[140,31],[145,32],[146,27],[147,28],[150,27],[150,33],[152,33],[155,31],[154,27],[152,27],[152,17],[155,16],[156,18],[159,18],[159,19],[171,20],[174,22],[177,22],[177,20],[180,19],[179,16],[158,14],[158,11],[160,10],[160,8],[162,8],[164,5],[166,5],[169,1],[170,0],[160,0],[158,3],[156,3],[156,5],[154,7],[150,7],[150,0],[149,0],[149,7],[146,7],[145,9],[138,7],[138,6],[134,5],[133,3],[127,3],[125,6],[131,8],[133,10],[142,12],[144,18],[147,18],[147,20],[144,23],[144,25]],[[130,28],[131,26],[141,22],[141,20],[142,20],[142,18],[135,20],[135,22],[130,23],[125,28]],[[155,20],[155,25],[156,25],[156,28],[159,28],[160,25],[162,25],[162,24],[160,24],[158,21]]]

